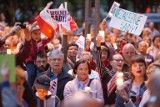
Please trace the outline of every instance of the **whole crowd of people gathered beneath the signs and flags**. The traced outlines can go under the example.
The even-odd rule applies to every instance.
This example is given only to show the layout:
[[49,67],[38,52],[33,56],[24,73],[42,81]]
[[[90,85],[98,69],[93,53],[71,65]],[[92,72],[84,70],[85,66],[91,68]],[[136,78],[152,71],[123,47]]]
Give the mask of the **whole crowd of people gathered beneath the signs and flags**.
[[[16,82],[9,81],[3,62],[0,107],[159,107],[160,33],[154,23],[136,36],[109,28],[104,19],[99,29],[105,36],[98,34],[91,47],[91,27],[92,38],[79,51],[76,41],[84,36],[84,25],[75,31],[62,28],[51,37],[37,22],[6,26],[0,53],[10,49],[15,56]],[[118,73],[123,74],[121,88],[115,84]]]

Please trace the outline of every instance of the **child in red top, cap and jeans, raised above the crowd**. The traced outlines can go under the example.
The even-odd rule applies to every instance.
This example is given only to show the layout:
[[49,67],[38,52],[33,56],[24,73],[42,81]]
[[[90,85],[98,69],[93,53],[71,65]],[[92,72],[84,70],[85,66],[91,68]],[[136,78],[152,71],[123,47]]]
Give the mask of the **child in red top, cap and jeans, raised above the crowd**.
[[41,39],[41,31],[38,25],[34,23],[35,26],[31,28],[31,52],[26,61],[26,70],[28,73],[28,83],[32,87],[34,80],[36,78],[36,66],[34,64],[34,60],[36,59],[36,54],[38,52],[45,52],[45,45],[50,42],[53,38],[46,37]]

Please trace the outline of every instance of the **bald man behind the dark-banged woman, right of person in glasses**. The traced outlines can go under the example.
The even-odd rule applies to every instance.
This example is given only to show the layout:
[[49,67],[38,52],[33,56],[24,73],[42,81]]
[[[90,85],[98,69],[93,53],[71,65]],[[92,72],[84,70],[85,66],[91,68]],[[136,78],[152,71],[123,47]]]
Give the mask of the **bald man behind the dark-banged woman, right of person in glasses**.
[[126,72],[129,71],[129,67],[130,67],[130,64],[131,64],[131,58],[132,58],[132,56],[135,55],[135,53],[136,53],[136,50],[135,50],[135,47],[132,44],[127,43],[127,44],[124,45],[124,47],[122,49],[122,55],[123,55],[124,60],[125,60],[123,71],[126,71]]

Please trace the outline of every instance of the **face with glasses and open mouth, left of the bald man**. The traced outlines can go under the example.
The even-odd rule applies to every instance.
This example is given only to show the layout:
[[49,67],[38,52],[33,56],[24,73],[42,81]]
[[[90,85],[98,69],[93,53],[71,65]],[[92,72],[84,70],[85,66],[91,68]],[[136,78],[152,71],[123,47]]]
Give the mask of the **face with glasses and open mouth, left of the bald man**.
[[122,71],[124,65],[123,57],[120,54],[114,55],[110,64],[114,71]]

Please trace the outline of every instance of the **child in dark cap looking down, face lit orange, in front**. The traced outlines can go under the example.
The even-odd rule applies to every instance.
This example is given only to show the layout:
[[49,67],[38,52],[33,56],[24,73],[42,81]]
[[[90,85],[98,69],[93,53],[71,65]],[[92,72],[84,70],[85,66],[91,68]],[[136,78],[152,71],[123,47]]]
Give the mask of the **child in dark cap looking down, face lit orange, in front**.
[[59,98],[52,95],[49,91],[50,79],[46,75],[40,75],[35,80],[35,87],[37,90],[37,107],[57,107]]

